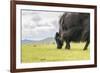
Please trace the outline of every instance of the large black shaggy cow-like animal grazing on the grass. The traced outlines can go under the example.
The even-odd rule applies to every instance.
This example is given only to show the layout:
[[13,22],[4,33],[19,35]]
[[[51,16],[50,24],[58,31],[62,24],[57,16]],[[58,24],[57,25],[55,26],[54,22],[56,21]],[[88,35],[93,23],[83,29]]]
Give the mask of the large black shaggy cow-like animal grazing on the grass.
[[70,42],[86,42],[83,50],[90,43],[90,14],[65,12],[59,20],[59,32],[55,34],[57,48],[61,49],[66,42],[66,49],[70,49]]

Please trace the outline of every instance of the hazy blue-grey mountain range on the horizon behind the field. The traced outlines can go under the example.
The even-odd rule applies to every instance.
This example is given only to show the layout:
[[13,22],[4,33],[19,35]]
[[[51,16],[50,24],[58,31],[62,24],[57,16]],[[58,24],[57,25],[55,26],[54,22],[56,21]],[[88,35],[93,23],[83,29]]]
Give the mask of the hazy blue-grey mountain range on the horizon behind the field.
[[55,41],[54,38],[46,38],[46,39],[38,40],[38,41],[25,39],[25,40],[22,40],[22,43],[23,44],[24,43],[34,43],[34,44],[38,44],[38,43],[52,43],[54,41]]

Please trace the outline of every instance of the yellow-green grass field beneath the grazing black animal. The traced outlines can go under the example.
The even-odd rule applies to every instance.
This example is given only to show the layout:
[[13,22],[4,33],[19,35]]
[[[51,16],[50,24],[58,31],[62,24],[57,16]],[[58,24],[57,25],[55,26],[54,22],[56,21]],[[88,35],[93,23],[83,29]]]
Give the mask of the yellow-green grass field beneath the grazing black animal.
[[71,43],[71,49],[57,49],[55,44],[22,44],[22,63],[89,60],[90,50],[83,51],[85,43]]

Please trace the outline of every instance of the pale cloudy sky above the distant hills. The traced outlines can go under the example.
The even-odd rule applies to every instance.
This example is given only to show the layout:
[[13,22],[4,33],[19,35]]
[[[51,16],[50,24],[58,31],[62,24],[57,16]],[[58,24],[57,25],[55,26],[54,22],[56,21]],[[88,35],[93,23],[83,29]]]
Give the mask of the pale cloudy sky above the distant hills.
[[63,12],[22,10],[22,40],[53,38]]

